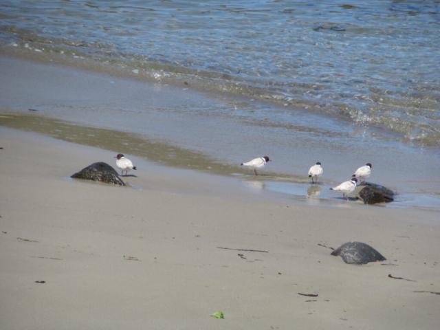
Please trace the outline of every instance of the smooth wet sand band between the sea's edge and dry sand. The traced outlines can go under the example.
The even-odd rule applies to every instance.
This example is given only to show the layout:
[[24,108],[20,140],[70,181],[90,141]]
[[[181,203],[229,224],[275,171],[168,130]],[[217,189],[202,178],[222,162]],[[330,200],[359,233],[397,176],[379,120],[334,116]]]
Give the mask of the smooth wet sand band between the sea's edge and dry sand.
[[[184,81],[173,85],[164,77],[151,81],[142,70],[135,74],[80,58],[7,51],[12,52],[0,49],[0,76],[8,82],[0,89],[0,113],[21,117],[0,118],[1,125],[117,149],[156,164],[236,177],[256,189],[314,203],[340,202],[329,188],[369,162],[369,181],[398,194],[387,207],[439,210],[440,176],[431,168],[438,168],[440,154],[434,148],[403,146],[387,140],[384,131],[353,127],[313,111],[296,113],[202,94]],[[274,118],[292,115],[296,124],[261,117],[264,107]],[[273,161],[259,188],[252,170],[246,173],[239,164],[263,155]],[[324,168],[320,191],[309,192],[307,170],[318,161]]]

